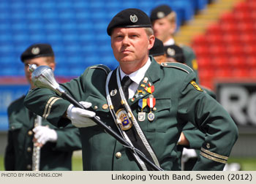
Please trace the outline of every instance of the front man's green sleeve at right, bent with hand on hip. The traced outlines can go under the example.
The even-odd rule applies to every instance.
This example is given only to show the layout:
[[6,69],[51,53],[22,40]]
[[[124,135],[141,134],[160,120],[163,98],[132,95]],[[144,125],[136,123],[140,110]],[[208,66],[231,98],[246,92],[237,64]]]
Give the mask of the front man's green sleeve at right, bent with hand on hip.
[[178,98],[178,116],[193,123],[206,134],[200,158],[194,170],[222,170],[238,138],[238,129],[226,110],[211,96],[191,83],[191,74],[184,80]]

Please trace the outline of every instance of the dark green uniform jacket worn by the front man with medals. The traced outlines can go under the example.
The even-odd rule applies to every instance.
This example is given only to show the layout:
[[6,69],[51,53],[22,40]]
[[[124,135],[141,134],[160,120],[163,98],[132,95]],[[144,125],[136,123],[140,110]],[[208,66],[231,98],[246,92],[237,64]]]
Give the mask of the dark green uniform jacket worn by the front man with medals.
[[[110,111],[103,108],[108,104],[105,97],[107,74],[106,66],[91,66],[80,77],[61,86],[77,101],[91,102],[90,110],[94,110],[103,122],[116,130]],[[155,118],[153,121],[146,118],[138,123],[154,148],[162,169],[173,168],[178,138],[184,125],[190,121],[207,134],[194,169],[222,170],[238,137],[238,130],[230,115],[217,101],[192,83],[195,73],[184,64],[166,63],[160,66],[151,57],[151,66],[145,77],[155,88]],[[149,95],[147,92],[135,100],[128,100],[135,117],[141,111],[139,99],[148,98]],[[59,127],[70,123],[67,118],[62,118],[69,104],[69,101],[61,99],[49,89],[36,88],[25,99],[26,107]],[[145,107],[143,111],[148,114],[150,108]],[[127,148],[110,137],[102,127],[80,129],[80,136],[84,170],[139,170]]]

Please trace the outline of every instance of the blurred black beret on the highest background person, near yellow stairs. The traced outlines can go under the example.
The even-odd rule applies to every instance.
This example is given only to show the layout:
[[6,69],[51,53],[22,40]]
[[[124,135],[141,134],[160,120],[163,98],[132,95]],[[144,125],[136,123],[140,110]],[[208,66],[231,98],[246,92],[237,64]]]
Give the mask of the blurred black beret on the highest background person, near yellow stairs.
[[165,18],[170,12],[173,12],[168,5],[161,5],[151,10],[150,19],[151,22],[154,20]]

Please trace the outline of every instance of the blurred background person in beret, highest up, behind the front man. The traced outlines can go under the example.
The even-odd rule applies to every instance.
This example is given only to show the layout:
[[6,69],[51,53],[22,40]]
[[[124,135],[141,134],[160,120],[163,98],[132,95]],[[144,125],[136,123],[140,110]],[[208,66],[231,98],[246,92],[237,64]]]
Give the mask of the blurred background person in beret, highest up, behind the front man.
[[[176,12],[174,12],[168,5],[160,5],[151,10],[150,18],[155,37],[162,40],[164,46],[176,44],[173,39],[173,34],[177,27]],[[197,75],[197,60],[194,51],[187,45],[179,46],[184,52],[185,64],[191,67]]]

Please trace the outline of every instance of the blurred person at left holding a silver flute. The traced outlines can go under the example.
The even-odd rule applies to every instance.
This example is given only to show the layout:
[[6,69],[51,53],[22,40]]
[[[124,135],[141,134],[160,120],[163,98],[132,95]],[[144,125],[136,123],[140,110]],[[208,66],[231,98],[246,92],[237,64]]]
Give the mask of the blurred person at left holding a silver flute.
[[[53,70],[55,68],[53,50],[48,44],[31,45],[20,58],[31,88],[34,88],[34,84],[31,82],[29,64],[48,65]],[[24,99],[25,96],[21,96],[8,107],[9,131],[4,156],[5,169],[71,170],[72,152],[81,149],[78,129],[71,124],[64,129],[58,129],[47,120],[41,121],[39,116],[24,106]]]

